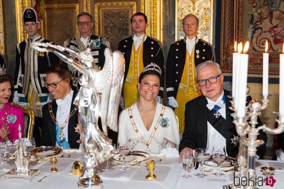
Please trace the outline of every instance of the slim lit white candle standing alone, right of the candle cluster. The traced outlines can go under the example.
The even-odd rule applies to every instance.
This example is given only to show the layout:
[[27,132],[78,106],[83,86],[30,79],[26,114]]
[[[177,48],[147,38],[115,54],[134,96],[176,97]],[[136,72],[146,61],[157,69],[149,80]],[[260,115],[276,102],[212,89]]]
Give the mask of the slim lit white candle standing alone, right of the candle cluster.
[[263,53],[263,70],[262,70],[262,94],[268,95],[268,59],[269,53],[268,50],[268,43],[267,40],[265,42],[265,53]]

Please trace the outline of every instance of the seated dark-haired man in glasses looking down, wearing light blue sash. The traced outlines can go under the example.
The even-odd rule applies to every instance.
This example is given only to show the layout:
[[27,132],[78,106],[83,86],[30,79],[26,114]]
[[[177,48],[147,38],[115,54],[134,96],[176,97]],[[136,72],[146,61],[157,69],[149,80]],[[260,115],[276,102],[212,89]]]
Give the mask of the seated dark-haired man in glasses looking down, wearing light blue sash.
[[78,107],[72,104],[76,92],[70,86],[70,70],[56,64],[46,69],[45,74],[44,85],[54,100],[42,108],[41,145],[79,148]]

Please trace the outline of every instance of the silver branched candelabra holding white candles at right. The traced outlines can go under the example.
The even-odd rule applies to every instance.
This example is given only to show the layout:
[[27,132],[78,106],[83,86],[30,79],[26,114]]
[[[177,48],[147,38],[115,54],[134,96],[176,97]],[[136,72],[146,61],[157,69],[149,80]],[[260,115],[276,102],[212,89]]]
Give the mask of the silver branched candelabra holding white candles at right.
[[[270,129],[265,124],[262,126],[256,125],[258,124],[257,118],[261,115],[261,110],[267,108],[268,103],[270,101],[271,95],[264,95],[262,96],[262,104],[258,100],[251,100],[248,104],[248,110],[246,112],[246,116],[244,118],[238,117],[236,112],[232,113],[231,115],[234,118],[233,123],[236,125],[236,131],[240,136],[240,143],[239,143],[239,154],[238,154],[238,164],[239,167],[237,169],[238,174],[244,175],[247,178],[256,176],[255,172],[255,155],[256,155],[256,148],[262,144],[264,144],[263,140],[258,140],[257,136],[259,135],[258,131],[263,130],[266,133],[271,134],[279,134],[284,131],[284,115],[278,115],[278,112],[273,112],[278,115],[276,121],[278,122],[278,127],[276,129]],[[231,97],[231,96],[230,96]],[[232,104],[231,109],[235,110],[234,98],[230,101]],[[250,121],[248,122],[248,120]],[[248,137],[247,137],[248,136]],[[247,186],[241,187],[245,189],[254,189],[254,181],[248,181]],[[232,188],[235,188],[232,185]],[[240,188],[240,187],[238,187]]]

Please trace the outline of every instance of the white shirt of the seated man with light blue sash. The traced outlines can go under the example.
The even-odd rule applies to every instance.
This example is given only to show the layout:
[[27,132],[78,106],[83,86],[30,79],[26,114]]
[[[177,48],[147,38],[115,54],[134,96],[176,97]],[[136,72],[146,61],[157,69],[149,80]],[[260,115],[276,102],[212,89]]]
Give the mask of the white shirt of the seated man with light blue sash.
[[[56,103],[57,103],[56,120],[61,125],[63,125],[63,123],[65,122],[65,120],[68,118],[68,116],[70,114],[70,108],[71,108],[73,93],[74,93],[74,91],[71,89],[71,91],[68,93],[67,96],[65,96],[65,98],[63,100],[56,99]],[[64,133],[64,135],[66,137],[66,141],[67,142],[68,142],[68,122],[67,122],[66,126],[63,129],[63,133]],[[60,147],[57,144],[57,142],[56,142],[56,146]]]

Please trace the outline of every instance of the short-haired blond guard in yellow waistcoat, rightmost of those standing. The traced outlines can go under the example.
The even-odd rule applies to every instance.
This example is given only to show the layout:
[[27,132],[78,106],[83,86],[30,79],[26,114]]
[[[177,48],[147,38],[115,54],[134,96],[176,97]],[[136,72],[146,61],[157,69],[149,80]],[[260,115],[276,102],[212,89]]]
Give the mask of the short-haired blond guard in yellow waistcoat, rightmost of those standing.
[[183,18],[185,38],[170,46],[166,67],[166,86],[169,105],[179,118],[180,134],[184,131],[185,103],[200,96],[195,67],[207,60],[215,62],[212,45],[196,36],[199,19],[193,14]]

